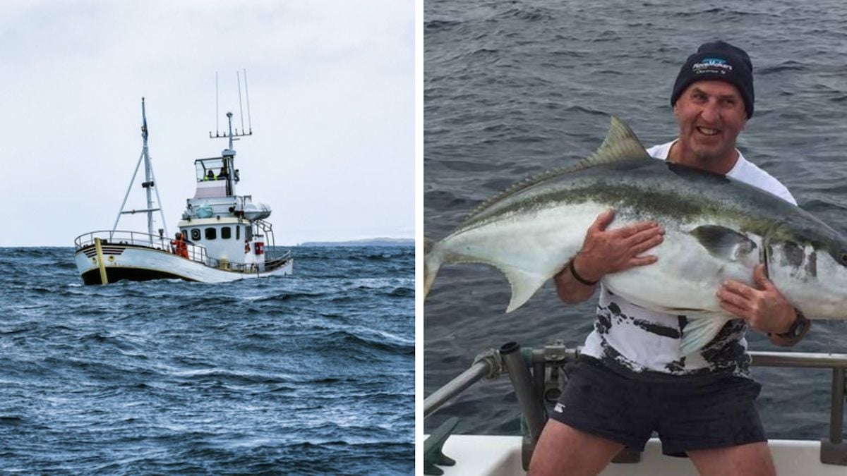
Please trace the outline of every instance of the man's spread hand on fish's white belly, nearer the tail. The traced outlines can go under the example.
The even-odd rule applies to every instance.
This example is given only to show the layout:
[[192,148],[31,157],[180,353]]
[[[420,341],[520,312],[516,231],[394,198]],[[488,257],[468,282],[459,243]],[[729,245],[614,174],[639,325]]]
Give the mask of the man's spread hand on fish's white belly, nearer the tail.
[[573,257],[573,268],[584,280],[599,281],[606,274],[656,263],[658,259],[654,255],[638,255],[662,242],[665,230],[659,224],[641,222],[606,230],[614,218],[612,209],[601,213],[585,234],[582,249]]

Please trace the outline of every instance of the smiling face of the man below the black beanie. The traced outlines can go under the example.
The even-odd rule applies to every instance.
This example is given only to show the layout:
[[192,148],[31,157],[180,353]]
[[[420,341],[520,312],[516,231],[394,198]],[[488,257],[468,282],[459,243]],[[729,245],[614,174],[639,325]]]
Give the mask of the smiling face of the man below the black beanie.
[[698,162],[714,163],[734,157],[735,140],[747,124],[744,99],[725,81],[692,83],[673,105],[679,141]]

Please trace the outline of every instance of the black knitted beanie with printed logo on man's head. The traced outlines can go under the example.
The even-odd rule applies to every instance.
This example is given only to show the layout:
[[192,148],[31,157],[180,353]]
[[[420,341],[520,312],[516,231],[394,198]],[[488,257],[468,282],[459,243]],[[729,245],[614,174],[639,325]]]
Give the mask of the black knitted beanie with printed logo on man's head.
[[689,56],[679,69],[677,81],[673,83],[671,106],[685,88],[700,80],[726,81],[738,88],[747,109],[747,119],[753,116],[753,64],[743,49],[721,41],[700,45],[697,53]]

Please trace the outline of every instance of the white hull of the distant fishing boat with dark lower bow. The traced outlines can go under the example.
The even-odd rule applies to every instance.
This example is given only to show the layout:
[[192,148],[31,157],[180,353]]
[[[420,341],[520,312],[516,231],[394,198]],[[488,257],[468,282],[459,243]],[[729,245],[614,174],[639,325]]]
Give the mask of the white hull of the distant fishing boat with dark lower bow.
[[[94,245],[82,247],[75,252],[76,268],[86,285],[102,284],[100,263]],[[203,283],[223,283],[245,280],[260,276],[291,274],[293,259],[290,257],[273,268],[227,270],[213,268],[205,263],[193,261],[173,253],[147,246],[130,244],[104,244],[102,246],[103,269],[107,281],[119,280],[162,280],[179,279]]]

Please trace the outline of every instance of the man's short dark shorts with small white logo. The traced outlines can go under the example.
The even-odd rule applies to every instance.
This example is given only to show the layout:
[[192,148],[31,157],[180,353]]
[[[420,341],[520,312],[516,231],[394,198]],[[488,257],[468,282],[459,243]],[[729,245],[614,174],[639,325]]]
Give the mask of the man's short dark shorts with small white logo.
[[767,441],[756,411],[761,385],[725,376],[633,379],[591,357],[568,369],[569,379],[551,418],[644,451],[653,431],[662,453]]

